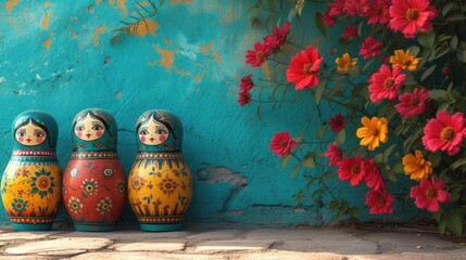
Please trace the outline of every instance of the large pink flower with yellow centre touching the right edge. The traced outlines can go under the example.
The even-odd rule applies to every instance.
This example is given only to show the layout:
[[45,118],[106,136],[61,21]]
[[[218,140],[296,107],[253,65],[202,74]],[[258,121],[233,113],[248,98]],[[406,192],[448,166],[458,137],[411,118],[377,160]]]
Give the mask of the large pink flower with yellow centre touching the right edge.
[[463,113],[450,115],[446,110],[437,112],[424,128],[423,144],[430,152],[444,151],[449,155],[459,152],[463,138],[466,135]]

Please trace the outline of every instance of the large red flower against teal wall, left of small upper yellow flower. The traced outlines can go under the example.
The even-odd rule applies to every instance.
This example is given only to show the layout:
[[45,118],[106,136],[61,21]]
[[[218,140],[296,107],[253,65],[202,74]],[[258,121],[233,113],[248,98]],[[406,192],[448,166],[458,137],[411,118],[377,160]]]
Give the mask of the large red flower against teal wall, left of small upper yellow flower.
[[318,83],[317,74],[323,61],[324,57],[319,56],[317,49],[307,47],[305,51],[291,57],[290,66],[287,69],[288,82],[294,82],[297,90],[316,86]]

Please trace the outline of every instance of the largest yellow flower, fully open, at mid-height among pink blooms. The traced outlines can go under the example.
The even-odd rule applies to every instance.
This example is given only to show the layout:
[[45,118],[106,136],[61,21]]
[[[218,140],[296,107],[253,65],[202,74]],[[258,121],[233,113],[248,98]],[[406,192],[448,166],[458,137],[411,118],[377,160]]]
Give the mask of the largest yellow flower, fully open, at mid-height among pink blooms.
[[380,142],[386,143],[388,141],[388,121],[385,117],[373,117],[369,119],[363,117],[361,120],[363,122],[362,128],[358,128],[356,131],[356,136],[362,139],[361,145],[368,146],[369,151],[374,151],[380,144]]

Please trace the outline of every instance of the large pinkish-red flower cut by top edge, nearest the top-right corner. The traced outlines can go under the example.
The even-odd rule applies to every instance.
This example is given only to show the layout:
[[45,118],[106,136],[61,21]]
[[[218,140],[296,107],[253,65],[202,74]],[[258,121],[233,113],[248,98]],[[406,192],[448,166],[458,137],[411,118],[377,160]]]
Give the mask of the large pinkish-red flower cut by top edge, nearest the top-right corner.
[[437,10],[429,0],[392,0],[390,28],[402,31],[405,38],[414,38],[417,30],[428,31],[437,17]]

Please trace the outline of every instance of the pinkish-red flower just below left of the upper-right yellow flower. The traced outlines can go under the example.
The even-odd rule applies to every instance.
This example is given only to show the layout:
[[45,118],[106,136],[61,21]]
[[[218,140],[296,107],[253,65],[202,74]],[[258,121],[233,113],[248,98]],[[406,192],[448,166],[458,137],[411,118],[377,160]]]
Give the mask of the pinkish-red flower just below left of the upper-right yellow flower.
[[369,78],[370,101],[378,104],[383,99],[394,100],[398,96],[398,88],[404,83],[406,75],[400,67],[393,72],[389,66],[382,65],[380,69]]

